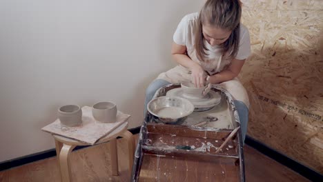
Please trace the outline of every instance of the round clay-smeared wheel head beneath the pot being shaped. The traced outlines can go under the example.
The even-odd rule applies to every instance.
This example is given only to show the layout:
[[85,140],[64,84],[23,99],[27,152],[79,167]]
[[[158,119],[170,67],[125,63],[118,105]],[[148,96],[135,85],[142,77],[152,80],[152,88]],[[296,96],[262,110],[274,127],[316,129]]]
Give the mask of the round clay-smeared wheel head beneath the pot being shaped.
[[193,103],[195,108],[210,108],[219,104],[221,101],[221,95],[214,90],[210,90],[210,92],[208,92],[208,94],[203,98],[193,98],[187,97],[182,88],[174,88],[172,90],[168,90],[166,96],[188,99],[188,101]]

